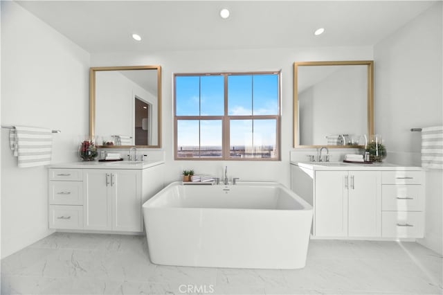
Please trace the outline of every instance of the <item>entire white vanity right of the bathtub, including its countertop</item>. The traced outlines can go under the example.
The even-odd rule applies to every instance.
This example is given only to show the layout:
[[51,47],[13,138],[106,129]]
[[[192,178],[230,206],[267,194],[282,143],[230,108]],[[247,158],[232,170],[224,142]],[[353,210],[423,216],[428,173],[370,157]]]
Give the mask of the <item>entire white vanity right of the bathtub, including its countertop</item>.
[[297,161],[291,189],[313,206],[316,238],[424,236],[422,168]]

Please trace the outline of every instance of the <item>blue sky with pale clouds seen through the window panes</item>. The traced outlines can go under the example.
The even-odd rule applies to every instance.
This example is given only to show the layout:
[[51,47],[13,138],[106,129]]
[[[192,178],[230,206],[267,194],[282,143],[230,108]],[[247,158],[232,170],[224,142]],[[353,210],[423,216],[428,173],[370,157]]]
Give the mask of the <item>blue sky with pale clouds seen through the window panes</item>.
[[[223,116],[224,76],[176,76],[177,116]],[[200,109],[201,108],[201,109]],[[228,115],[278,114],[278,75],[229,75]],[[254,132],[252,133],[252,125]],[[231,120],[230,145],[275,144],[275,120]],[[221,120],[179,120],[178,144],[221,145]]]

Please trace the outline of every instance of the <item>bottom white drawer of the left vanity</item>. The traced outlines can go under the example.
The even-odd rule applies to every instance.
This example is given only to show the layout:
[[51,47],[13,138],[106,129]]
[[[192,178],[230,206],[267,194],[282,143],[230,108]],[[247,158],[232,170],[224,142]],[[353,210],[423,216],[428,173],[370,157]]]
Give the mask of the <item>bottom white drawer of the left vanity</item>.
[[83,206],[49,206],[50,229],[83,229]]

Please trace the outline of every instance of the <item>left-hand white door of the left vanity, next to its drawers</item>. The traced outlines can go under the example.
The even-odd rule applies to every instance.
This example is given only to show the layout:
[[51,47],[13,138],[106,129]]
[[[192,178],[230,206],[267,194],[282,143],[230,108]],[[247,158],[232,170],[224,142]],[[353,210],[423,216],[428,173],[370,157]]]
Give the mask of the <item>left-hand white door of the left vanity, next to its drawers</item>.
[[111,173],[84,170],[84,229],[111,229]]

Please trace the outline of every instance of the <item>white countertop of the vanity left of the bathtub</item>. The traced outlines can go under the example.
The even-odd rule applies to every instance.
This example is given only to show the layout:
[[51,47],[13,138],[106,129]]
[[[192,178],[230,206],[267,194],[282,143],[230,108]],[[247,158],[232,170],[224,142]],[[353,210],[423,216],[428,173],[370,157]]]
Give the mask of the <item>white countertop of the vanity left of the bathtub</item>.
[[115,162],[99,162],[84,161],[72,163],[58,163],[49,165],[48,168],[64,168],[64,169],[146,169],[164,164],[165,161],[115,161]]

